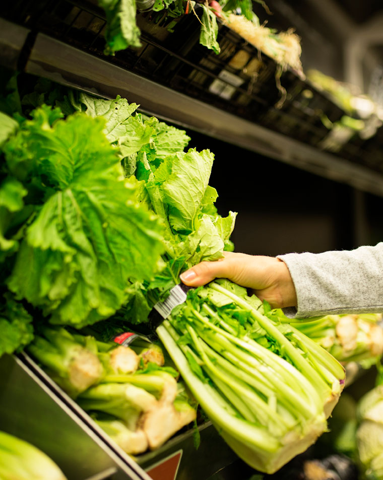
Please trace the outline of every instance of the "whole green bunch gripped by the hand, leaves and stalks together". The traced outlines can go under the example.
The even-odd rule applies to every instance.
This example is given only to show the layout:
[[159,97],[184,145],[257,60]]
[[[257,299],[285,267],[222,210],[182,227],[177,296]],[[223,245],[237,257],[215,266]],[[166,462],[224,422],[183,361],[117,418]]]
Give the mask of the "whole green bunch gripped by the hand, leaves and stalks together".
[[[117,138],[113,102],[117,114],[122,99],[80,94],[76,108],[106,115],[109,140],[121,152],[124,147],[125,174],[140,182],[141,201],[164,226],[162,268],[152,281],[131,283],[127,303],[113,318],[140,323],[179,282],[181,270],[219,259],[230,248],[235,214],[217,213],[217,192],[208,185],[211,152],[183,151],[183,132],[139,114]],[[217,281],[189,291],[157,334],[223,438],[253,467],[277,470],[326,430],[344,383],[343,367],[297,329],[273,319],[270,307],[245,289]]]

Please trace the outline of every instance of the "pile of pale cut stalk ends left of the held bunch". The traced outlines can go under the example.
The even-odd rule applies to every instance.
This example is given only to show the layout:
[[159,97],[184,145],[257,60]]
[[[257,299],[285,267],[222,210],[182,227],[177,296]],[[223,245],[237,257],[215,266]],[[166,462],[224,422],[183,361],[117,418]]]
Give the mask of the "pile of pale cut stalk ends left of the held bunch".
[[160,447],[196,419],[177,372],[161,348],[102,342],[64,328],[43,327],[28,347],[47,373],[126,452]]

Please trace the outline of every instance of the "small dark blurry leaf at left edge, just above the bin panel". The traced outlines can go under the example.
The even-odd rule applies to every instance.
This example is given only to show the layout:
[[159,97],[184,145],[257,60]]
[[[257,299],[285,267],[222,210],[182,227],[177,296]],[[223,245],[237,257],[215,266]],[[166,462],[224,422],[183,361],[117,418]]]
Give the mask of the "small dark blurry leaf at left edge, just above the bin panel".
[[0,357],[22,349],[33,339],[32,317],[8,293],[0,305]]

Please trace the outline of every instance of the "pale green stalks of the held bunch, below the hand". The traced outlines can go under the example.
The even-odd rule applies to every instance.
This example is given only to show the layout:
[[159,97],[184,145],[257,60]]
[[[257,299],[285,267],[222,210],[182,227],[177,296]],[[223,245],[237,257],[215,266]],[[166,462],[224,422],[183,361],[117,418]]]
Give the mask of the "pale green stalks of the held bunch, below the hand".
[[326,431],[343,367],[267,305],[218,280],[157,328],[190,391],[246,463],[273,473]]

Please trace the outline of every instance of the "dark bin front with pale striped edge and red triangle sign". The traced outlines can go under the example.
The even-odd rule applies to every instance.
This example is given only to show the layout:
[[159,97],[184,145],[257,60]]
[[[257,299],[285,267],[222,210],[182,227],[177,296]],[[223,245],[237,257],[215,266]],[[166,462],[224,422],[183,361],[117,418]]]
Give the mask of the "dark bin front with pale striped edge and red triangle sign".
[[[198,449],[196,433],[190,428],[159,449],[133,458],[111,441],[27,354],[2,358],[0,372],[3,371],[0,381],[0,389],[4,390],[0,397],[3,430],[34,443],[56,461],[70,480],[86,480],[104,470],[110,475],[112,468],[117,469],[112,480],[206,480],[238,458],[210,422],[198,428],[201,439]],[[16,407],[7,418],[10,405]],[[100,480],[103,478],[109,476],[100,476]]]

